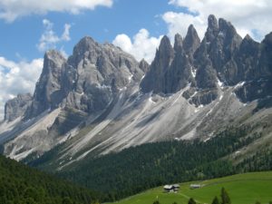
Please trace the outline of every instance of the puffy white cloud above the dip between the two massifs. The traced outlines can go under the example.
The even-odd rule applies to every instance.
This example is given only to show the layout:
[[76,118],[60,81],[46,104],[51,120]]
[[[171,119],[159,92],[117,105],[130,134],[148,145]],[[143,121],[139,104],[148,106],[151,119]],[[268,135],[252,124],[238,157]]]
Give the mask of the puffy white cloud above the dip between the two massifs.
[[141,29],[138,34],[133,36],[132,41],[127,34],[118,34],[112,44],[131,53],[138,61],[144,58],[148,63],[151,63],[156,53],[156,47],[160,45],[161,37],[151,37],[146,29]]

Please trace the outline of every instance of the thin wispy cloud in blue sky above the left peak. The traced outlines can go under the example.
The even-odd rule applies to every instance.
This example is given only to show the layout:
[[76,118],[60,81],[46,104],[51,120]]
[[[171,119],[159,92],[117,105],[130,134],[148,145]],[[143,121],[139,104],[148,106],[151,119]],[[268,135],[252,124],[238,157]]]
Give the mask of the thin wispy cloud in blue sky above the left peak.
[[40,52],[44,52],[48,49],[54,49],[56,44],[70,41],[70,28],[71,24],[64,24],[64,31],[62,36],[58,36],[53,31],[53,23],[47,19],[43,20],[44,24],[44,34],[42,34],[40,38],[39,44],[37,44],[37,48]]

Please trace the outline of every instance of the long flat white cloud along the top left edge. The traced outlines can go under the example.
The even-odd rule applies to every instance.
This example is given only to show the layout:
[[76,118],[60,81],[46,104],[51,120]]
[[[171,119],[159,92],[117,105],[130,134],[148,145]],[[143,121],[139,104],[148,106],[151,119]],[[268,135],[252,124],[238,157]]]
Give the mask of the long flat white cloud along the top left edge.
[[0,0],[0,19],[13,22],[25,15],[45,15],[48,12],[79,14],[102,5],[111,7],[113,0]]

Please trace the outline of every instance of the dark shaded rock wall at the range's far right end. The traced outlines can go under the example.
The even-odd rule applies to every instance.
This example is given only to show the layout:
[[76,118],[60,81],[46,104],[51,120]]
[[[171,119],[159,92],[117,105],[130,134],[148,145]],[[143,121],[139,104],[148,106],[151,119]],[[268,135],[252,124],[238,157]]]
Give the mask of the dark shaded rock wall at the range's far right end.
[[272,96],[272,33],[258,44],[246,36],[240,46],[238,64],[244,71],[243,86],[237,94],[243,102],[251,102]]

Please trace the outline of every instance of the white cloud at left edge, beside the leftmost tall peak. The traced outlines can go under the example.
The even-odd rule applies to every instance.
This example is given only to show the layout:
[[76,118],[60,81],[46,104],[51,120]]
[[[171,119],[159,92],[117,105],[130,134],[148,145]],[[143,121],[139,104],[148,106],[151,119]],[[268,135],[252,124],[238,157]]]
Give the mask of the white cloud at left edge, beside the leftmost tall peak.
[[43,68],[43,59],[15,63],[0,56],[0,121],[4,118],[5,102],[18,93],[34,92]]

